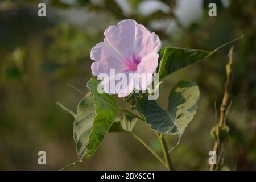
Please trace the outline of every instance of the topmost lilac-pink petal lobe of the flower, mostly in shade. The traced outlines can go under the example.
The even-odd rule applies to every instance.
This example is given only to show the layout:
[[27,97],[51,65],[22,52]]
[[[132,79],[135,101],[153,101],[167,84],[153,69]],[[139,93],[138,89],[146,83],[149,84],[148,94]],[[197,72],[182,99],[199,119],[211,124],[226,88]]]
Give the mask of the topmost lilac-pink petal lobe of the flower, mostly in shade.
[[130,60],[134,51],[137,26],[137,22],[132,19],[122,20],[117,26],[110,26],[105,30],[104,41],[126,60]]

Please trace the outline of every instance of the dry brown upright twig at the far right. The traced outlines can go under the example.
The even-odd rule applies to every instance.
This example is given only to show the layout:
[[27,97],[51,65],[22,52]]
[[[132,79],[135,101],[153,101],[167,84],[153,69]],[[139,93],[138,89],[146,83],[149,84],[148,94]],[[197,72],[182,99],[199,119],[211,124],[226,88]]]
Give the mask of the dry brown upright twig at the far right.
[[[230,95],[231,95],[231,88],[232,88],[232,82],[233,82],[233,75],[232,75],[232,63],[233,63],[233,49],[234,47],[230,48],[229,51],[229,63],[226,65],[226,84],[225,84],[225,91],[224,96],[222,98],[222,104],[220,107],[220,120],[218,122],[218,126],[220,129],[224,129],[226,126],[226,115],[229,110],[230,106]],[[219,136],[218,136],[219,137]],[[218,170],[220,160],[222,158],[222,146],[224,143],[222,143],[220,140],[216,140],[214,142],[213,150],[217,154],[217,164],[211,164],[210,165],[210,171]]]

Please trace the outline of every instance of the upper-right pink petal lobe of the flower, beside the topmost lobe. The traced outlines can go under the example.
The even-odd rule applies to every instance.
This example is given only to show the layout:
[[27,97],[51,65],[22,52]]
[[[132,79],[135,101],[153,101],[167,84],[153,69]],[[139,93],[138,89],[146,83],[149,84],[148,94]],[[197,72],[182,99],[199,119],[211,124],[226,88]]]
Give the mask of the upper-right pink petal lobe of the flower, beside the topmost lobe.
[[138,57],[147,56],[150,53],[157,53],[162,46],[161,40],[155,32],[150,33],[143,25],[136,28],[135,55]]

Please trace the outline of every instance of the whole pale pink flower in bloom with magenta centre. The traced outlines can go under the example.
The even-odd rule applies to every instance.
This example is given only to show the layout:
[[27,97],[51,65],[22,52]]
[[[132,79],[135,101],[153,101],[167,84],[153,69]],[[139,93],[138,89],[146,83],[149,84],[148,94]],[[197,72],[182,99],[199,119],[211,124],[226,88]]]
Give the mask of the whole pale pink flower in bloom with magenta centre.
[[[161,48],[159,37],[131,19],[108,27],[104,35],[104,42],[96,44],[90,51],[90,59],[94,60],[92,75],[103,78],[101,85],[104,91],[125,97],[134,89],[146,90],[153,80],[152,73],[158,67],[158,51]],[[108,78],[102,77],[102,73]],[[118,73],[127,79],[121,80],[113,75]],[[146,78],[136,81],[141,74],[146,74]],[[122,86],[120,88],[117,85]]]

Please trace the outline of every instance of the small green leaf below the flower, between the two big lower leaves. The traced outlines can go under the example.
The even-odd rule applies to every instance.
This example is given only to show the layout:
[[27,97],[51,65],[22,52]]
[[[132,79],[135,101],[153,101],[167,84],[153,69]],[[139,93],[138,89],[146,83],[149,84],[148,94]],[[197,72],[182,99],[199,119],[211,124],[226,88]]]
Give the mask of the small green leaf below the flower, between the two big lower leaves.
[[132,132],[137,122],[133,115],[125,114],[122,118],[117,118],[109,129],[109,132]]

